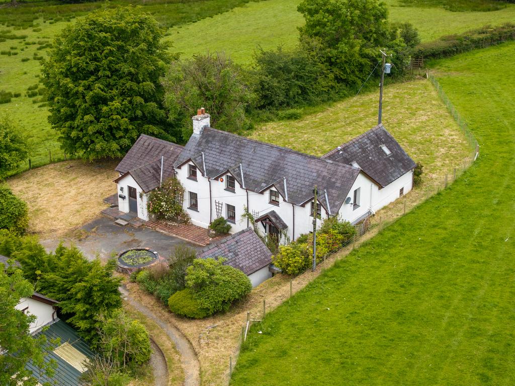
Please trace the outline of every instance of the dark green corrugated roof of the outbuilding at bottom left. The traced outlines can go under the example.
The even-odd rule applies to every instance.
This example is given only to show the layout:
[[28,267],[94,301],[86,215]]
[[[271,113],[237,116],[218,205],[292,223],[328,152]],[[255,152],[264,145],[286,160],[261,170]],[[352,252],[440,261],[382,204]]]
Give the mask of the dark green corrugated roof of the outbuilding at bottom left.
[[[59,345],[62,345],[65,342],[68,342],[73,347],[75,347],[80,353],[87,357],[92,357],[93,352],[90,347],[84,342],[82,338],[77,335],[75,330],[68,326],[63,321],[57,321],[51,324],[48,329],[45,331],[38,332],[35,336],[39,337],[40,335],[46,335],[47,340],[50,339],[60,339]],[[50,343],[46,343],[47,347],[50,346]],[[52,378],[48,378],[45,374],[40,374],[40,370],[37,366],[35,366],[32,361],[29,361],[25,368],[32,372],[32,375],[38,379],[39,383],[43,384],[44,382],[50,382],[51,384],[55,384],[56,386],[79,386],[81,383],[79,382],[79,378],[82,375],[74,366],[70,363],[62,359],[60,356],[54,353],[55,344],[50,346],[50,353],[45,357],[45,361],[49,361],[50,359],[54,359],[57,362],[57,368],[55,370],[55,374]]]

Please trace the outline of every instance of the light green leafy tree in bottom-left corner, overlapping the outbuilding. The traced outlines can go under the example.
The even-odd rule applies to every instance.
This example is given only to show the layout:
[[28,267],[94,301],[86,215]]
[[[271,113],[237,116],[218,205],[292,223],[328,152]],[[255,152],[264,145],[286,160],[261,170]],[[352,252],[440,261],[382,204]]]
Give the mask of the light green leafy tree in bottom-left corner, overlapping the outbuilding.
[[52,375],[54,363],[43,360],[46,342],[44,335],[35,338],[29,326],[35,316],[15,309],[22,297],[34,292],[32,284],[22,277],[18,268],[0,264],[0,384],[6,386],[35,386],[38,380],[25,369],[32,360],[42,372]]

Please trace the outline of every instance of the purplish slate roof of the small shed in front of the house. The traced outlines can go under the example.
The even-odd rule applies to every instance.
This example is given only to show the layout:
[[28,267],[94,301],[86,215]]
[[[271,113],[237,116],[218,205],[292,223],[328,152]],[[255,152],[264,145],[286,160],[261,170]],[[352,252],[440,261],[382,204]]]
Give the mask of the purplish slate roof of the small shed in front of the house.
[[252,228],[241,230],[197,253],[197,258],[225,257],[230,265],[245,275],[253,274],[272,262],[272,254]]

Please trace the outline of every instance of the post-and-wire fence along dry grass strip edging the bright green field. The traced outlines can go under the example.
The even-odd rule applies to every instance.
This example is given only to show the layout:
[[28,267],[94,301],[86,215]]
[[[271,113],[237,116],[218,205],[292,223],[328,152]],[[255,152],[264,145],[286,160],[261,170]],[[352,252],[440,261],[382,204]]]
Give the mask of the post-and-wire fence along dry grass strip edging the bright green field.
[[[395,223],[400,217],[404,216],[410,210],[414,209],[417,205],[420,205],[425,200],[429,199],[433,195],[439,193],[443,189],[449,187],[455,180],[457,180],[465,171],[474,163],[479,156],[479,144],[474,138],[473,133],[467,126],[464,119],[461,118],[454,105],[450,102],[447,95],[442,90],[440,84],[433,75],[428,74],[428,79],[432,82],[439,97],[445,104],[454,120],[464,133],[465,137],[471,148],[470,156],[456,162],[455,167],[448,170],[444,174],[436,179],[429,182],[424,182],[421,187],[415,188],[410,192],[409,195],[403,195],[386,208],[377,212],[374,216],[369,216],[362,223],[356,226],[357,234],[352,239],[348,240],[345,245],[342,245],[338,250],[332,251],[330,254],[323,256],[321,262],[317,265],[316,270],[313,272],[312,267],[298,276],[291,278],[286,284],[286,287],[274,290],[273,298],[263,299],[263,303],[259,305],[253,305],[246,313],[246,320],[242,324],[241,338],[237,344],[237,347],[230,355],[228,368],[226,374],[228,375],[228,381],[231,378],[233,368],[236,364],[237,357],[242,348],[242,344],[248,339],[250,333],[254,333],[251,327],[254,323],[262,322],[267,312],[272,311],[274,308],[285,303],[291,296],[297,291],[304,288],[307,283],[318,277],[326,268],[332,266],[338,260],[345,258],[354,248],[359,246],[366,240],[374,237],[376,234],[382,232],[387,227]],[[277,296],[281,293],[281,296]]]

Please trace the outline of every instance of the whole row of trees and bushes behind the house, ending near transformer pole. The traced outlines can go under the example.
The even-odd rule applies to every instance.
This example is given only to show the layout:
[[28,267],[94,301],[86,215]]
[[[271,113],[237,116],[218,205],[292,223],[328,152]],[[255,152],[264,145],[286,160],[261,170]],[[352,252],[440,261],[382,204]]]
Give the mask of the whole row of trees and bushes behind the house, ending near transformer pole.
[[[377,0],[304,0],[298,10],[305,25],[296,47],[258,49],[251,68],[224,53],[179,59],[164,29],[138,8],[89,13],[56,37],[43,62],[48,120],[61,147],[94,160],[124,156],[141,133],[182,144],[199,106],[214,127],[241,133],[256,120],[352,94],[379,49],[402,76],[419,42],[413,26],[390,23]],[[18,140],[12,146],[20,148]],[[0,173],[9,167],[2,163]]]

